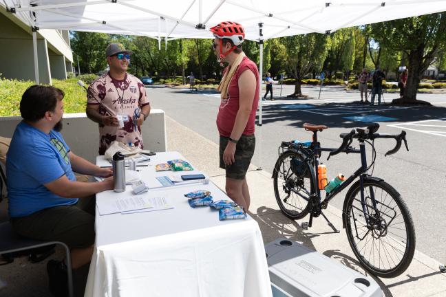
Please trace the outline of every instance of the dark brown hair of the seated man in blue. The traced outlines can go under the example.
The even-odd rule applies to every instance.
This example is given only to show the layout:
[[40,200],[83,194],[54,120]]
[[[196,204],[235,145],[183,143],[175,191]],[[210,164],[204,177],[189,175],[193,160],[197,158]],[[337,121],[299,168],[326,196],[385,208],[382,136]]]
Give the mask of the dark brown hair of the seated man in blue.
[[62,100],[65,94],[56,87],[33,85],[26,89],[20,101],[20,114],[23,120],[37,122],[47,111],[56,109],[57,100]]

